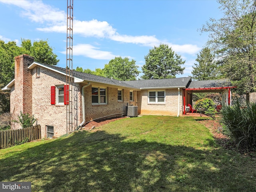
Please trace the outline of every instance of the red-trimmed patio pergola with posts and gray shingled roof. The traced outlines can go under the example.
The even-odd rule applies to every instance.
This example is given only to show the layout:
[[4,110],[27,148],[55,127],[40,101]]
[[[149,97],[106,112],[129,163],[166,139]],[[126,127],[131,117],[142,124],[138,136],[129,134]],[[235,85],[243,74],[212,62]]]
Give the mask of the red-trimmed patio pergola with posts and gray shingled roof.
[[202,80],[191,81],[187,88],[183,89],[183,114],[187,104],[192,105],[192,93],[198,92],[217,92],[222,94],[222,106],[231,105],[231,89],[232,86],[228,80]]

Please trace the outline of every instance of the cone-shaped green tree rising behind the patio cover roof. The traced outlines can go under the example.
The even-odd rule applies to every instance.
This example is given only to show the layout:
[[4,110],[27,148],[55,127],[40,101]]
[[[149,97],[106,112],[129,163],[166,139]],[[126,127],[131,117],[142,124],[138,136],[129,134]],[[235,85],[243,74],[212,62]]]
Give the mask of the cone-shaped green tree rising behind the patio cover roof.
[[197,54],[194,66],[192,66],[192,78],[195,80],[212,80],[218,78],[218,63],[214,60],[214,54],[211,53],[210,48],[203,48]]

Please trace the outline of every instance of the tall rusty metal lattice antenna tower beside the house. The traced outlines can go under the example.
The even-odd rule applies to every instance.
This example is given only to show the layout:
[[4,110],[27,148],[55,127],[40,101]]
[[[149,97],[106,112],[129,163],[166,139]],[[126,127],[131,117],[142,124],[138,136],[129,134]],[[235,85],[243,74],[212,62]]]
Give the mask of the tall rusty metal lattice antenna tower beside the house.
[[[73,130],[73,0],[67,0],[66,131]],[[65,88],[64,88],[65,90]],[[65,97],[65,96],[64,96]]]

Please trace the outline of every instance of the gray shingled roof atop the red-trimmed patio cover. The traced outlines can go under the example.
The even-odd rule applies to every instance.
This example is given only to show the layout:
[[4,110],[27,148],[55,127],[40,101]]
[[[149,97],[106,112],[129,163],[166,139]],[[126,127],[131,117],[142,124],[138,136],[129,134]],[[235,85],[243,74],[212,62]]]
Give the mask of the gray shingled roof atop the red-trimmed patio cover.
[[205,87],[227,87],[232,86],[228,80],[202,80],[191,81],[187,88],[205,88]]

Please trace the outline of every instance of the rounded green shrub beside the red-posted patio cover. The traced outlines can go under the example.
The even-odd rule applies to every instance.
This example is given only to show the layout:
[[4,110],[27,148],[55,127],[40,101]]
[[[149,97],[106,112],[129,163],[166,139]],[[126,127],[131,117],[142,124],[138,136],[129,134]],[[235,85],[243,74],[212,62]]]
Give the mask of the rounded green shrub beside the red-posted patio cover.
[[200,112],[215,119],[215,114],[217,112],[215,110],[215,104],[212,99],[203,98],[197,100],[196,104],[194,105],[194,108],[197,110],[197,112]]

